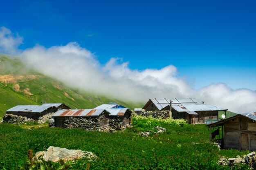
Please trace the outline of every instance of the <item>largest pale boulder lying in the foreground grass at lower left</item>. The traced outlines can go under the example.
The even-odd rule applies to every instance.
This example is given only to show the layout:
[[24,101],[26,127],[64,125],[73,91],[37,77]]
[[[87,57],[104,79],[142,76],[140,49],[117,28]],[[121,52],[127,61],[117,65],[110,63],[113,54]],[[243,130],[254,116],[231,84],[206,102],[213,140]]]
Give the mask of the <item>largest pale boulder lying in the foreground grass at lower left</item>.
[[74,159],[81,159],[83,157],[87,157],[90,161],[95,161],[97,159],[97,156],[94,155],[92,152],[85,152],[83,150],[68,150],[66,148],[59,148],[50,146],[47,151],[40,151],[36,152],[35,158],[38,159],[43,155],[43,159],[45,161],[52,161],[52,162],[58,162],[60,159],[62,159],[64,162],[72,161]]

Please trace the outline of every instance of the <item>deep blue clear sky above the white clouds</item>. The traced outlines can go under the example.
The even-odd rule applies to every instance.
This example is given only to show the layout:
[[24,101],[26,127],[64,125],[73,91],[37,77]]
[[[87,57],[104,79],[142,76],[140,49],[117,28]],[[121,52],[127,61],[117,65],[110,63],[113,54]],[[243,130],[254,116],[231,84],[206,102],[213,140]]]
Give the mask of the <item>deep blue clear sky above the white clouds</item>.
[[256,90],[256,1],[9,0],[0,26],[23,37],[20,49],[78,42],[105,64],[173,64],[195,89],[212,83]]

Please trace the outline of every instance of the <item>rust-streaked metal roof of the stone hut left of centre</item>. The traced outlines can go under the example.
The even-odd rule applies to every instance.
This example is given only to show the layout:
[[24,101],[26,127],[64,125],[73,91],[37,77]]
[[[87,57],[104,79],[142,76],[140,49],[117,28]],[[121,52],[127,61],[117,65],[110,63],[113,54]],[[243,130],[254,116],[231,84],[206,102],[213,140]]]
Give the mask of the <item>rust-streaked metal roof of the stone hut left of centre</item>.
[[70,109],[58,110],[52,117],[68,117],[68,116],[99,116],[104,109]]

